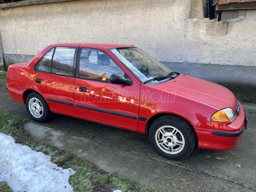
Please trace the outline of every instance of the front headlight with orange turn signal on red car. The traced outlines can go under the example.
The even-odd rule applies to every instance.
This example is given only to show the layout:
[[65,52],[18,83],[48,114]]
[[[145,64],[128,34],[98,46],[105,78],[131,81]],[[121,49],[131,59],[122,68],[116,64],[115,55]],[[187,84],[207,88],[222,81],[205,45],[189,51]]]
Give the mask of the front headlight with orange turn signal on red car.
[[236,113],[231,108],[221,109],[214,113],[211,117],[212,122],[228,123],[236,118]]

